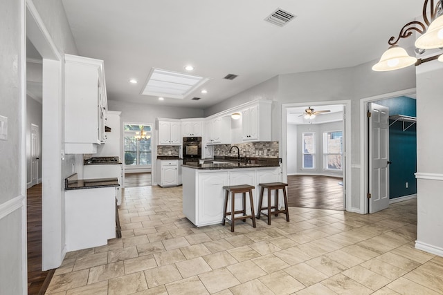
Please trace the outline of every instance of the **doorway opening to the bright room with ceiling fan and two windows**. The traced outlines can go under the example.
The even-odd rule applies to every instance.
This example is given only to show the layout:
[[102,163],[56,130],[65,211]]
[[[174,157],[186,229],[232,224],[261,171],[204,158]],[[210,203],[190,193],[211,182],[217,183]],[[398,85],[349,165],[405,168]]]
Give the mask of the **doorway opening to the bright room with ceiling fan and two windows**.
[[283,104],[282,166],[289,206],[346,209],[346,108],[350,102]]

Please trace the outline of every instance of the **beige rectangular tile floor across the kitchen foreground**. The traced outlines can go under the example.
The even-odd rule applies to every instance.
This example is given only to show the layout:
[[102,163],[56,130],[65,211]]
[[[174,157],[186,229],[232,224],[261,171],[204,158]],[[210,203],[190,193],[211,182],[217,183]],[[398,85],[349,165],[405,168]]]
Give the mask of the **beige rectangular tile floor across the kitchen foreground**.
[[290,208],[197,228],[181,187],[134,187],[123,238],[66,254],[46,294],[443,294],[443,258],[414,248],[416,200],[372,215]]

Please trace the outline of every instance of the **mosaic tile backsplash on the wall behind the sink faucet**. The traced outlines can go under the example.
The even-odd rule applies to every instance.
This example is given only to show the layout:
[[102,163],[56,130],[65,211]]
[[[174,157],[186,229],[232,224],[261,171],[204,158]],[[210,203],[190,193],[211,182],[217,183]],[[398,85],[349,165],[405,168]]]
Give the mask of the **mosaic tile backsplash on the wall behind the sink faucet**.
[[238,146],[240,157],[278,158],[278,142],[247,142],[242,144],[216,144],[214,155],[233,156],[237,155],[237,149],[229,153],[231,146]]

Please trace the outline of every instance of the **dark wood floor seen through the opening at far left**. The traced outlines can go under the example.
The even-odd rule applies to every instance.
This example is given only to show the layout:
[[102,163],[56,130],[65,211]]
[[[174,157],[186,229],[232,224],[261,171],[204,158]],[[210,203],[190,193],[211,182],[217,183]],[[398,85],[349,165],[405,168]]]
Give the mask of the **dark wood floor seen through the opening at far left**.
[[44,294],[55,269],[42,272],[42,184],[28,189],[28,294]]

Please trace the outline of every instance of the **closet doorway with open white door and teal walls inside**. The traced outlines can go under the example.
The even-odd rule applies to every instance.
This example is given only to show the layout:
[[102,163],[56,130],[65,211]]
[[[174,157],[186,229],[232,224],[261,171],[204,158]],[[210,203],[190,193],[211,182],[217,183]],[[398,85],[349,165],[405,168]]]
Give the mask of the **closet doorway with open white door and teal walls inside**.
[[368,212],[374,213],[417,196],[415,95],[368,102],[368,109]]

